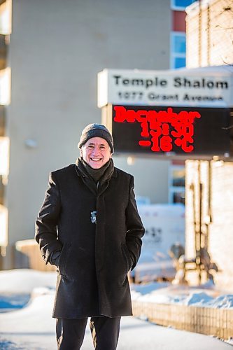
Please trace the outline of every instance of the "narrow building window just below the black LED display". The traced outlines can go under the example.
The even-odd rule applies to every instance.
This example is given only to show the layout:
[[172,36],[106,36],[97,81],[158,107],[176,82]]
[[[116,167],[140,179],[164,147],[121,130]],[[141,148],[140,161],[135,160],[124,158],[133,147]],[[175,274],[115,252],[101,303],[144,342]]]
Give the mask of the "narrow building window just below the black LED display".
[[169,203],[185,204],[185,165],[171,165]]

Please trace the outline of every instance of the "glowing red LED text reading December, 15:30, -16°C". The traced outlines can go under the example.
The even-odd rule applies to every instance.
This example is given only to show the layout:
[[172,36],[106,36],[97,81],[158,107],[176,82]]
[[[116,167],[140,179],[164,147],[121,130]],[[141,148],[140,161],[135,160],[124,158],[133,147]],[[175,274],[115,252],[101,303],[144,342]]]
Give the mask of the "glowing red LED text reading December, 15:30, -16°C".
[[150,146],[153,152],[171,152],[174,144],[184,152],[192,152],[194,140],[194,120],[201,118],[196,111],[175,113],[171,107],[167,111],[134,111],[123,106],[114,106],[115,123],[140,123],[139,146]]

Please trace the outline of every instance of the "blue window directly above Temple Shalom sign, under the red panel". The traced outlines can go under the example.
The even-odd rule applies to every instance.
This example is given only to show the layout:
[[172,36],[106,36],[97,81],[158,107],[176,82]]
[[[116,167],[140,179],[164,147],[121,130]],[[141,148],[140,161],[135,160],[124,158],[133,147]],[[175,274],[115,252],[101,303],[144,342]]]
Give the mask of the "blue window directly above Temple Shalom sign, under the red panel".
[[186,36],[185,33],[171,32],[171,69],[182,68],[186,65]]

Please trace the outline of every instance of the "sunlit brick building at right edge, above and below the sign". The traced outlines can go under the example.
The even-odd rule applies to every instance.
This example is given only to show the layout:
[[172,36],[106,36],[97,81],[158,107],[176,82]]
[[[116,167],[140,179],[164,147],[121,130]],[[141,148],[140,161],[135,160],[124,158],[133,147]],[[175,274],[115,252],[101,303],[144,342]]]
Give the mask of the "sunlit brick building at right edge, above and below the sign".
[[[186,12],[188,68],[221,66],[223,71],[233,72],[232,1],[199,1]],[[232,290],[232,103],[228,108],[230,159],[216,155],[209,162],[189,160],[186,164],[185,251],[197,262],[197,270],[188,273],[189,281],[197,283],[198,264],[209,256],[218,267],[218,272],[213,271],[216,284]],[[205,281],[205,271],[199,271],[199,277]]]

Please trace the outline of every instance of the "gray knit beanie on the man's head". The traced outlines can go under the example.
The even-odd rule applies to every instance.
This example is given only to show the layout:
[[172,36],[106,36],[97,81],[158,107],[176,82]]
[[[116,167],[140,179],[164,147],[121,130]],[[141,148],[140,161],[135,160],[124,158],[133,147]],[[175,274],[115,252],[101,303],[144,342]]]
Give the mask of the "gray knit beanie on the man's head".
[[113,148],[113,137],[108,131],[108,129],[101,124],[89,124],[87,125],[81,134],[80,141],[78,143],[78,148],[82,148],[82,146],[92,137],[101,137],[108,142],[108,145],[111,148],[111,153],[114,152]]

